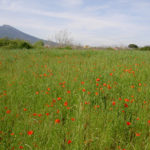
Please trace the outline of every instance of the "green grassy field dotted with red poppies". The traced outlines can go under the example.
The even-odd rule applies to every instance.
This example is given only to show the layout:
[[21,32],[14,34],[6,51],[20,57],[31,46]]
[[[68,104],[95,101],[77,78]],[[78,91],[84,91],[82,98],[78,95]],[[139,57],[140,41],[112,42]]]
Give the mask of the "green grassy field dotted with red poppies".
[[0,50],[0,150],[150,150],[150,52]]

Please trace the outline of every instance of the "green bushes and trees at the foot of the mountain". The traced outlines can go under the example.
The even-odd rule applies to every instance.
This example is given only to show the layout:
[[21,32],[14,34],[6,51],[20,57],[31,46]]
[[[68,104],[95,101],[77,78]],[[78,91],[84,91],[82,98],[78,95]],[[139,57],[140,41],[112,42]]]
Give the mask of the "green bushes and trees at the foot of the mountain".
[[37,41],[34,44],[31,44],[27,41],[20,39],[0,39],[0,48],[5,49],[32,49],[32,48],[41,48],[44,46],[43,41]]

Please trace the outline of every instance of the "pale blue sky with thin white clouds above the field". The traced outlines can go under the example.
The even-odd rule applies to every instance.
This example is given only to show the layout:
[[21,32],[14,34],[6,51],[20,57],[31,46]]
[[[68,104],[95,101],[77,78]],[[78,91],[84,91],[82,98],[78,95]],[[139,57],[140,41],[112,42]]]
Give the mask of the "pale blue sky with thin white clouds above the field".
[[55,41],[67,30],[75,44],[150,45],[150,0],[0,0],[0,26]]

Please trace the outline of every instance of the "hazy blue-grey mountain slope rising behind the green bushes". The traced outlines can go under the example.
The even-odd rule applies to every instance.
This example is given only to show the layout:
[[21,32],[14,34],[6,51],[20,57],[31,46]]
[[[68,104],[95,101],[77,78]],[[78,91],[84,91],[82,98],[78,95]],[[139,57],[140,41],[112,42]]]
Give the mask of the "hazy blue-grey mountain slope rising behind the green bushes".
[[34,37],[32,35],[26,34],[10,25],[3,25],[0,26],[0,38],[10,38],[10,39],[21,39],[28,41],[30,43],[35,43],[39,40],[42,40],[46,45],[57,45],[57,43],[53,41],[46,41],[37,37]]

